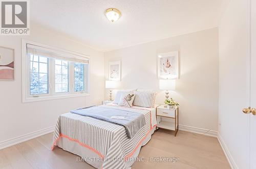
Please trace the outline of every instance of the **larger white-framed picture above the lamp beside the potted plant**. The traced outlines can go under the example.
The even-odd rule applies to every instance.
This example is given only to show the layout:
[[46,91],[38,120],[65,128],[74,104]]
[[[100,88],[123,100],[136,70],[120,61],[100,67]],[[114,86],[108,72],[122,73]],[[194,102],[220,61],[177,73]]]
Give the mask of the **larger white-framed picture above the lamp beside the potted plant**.
[[179,52],[157,54],[158,78],[179,79]]

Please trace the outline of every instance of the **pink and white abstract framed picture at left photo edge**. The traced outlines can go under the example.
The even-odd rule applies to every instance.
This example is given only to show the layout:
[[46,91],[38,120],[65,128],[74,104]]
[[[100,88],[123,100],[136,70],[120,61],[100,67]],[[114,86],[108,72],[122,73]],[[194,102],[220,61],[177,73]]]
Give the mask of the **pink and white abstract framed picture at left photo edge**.
[[14,80],[14,49],[0,46],[0,80]]

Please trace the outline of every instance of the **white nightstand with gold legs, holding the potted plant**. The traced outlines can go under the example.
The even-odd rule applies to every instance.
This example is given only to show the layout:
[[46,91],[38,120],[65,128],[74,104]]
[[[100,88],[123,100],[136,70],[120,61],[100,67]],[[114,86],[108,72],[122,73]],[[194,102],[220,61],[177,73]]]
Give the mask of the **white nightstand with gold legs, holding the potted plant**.
[[[169,118],[170,120],[163,121],[162,117]],[[164,105],[157,107],[157,128],[173,130],[175,136],[179,130],[179,108],[175,106],[173,109],[168,109]]]

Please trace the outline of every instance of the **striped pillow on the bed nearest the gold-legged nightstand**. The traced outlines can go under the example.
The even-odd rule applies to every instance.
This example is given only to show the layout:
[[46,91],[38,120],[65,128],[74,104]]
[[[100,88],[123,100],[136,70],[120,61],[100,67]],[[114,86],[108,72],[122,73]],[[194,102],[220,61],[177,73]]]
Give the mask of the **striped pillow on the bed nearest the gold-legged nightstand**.
[[155,91],[134,91],[134,106],[140,107],[154,107],[156,92]]

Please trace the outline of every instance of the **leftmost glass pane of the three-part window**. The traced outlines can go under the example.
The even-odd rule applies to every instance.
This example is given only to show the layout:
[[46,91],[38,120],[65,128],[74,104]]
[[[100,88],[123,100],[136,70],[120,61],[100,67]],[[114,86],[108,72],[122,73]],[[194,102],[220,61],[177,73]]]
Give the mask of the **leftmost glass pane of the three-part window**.
[[[44,58],[44,59],[40,59]],[[33,61],[34,59],[34,61]],[[46,59],[46,60],[45,60]],[[48,58],[39,57],[39,61],[44,61],[46,63],[38,62],[38,56],[30,55],[30,94],[47,94],[48,91]]]

